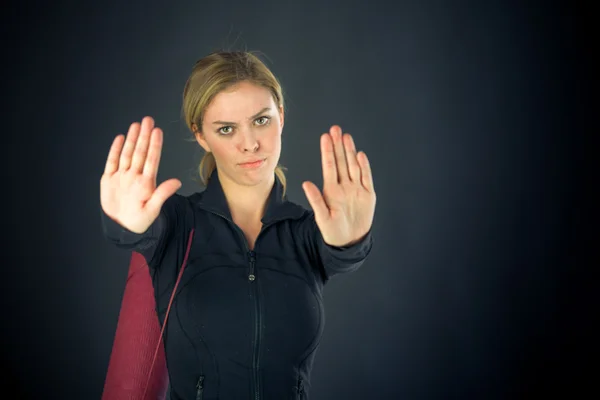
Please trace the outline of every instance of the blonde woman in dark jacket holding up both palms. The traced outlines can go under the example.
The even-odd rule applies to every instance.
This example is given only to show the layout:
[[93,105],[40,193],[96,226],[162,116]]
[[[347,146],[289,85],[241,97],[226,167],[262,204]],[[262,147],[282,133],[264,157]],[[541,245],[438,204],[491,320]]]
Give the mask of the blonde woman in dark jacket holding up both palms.
[[203,192],[179,195],[177,179],[156,187],[162,131],[150,117],[115,138],[100,182],[104,234],[146,259],[161,324],[195,231],[163,337],[169,396],[306,399],[323,286],[371,250],[367,156],[331,127],[320,143],[323,192],[302,185],[312,211],[288,201],[282,90],[248,52],[198,61],[183,111],[206,151]]

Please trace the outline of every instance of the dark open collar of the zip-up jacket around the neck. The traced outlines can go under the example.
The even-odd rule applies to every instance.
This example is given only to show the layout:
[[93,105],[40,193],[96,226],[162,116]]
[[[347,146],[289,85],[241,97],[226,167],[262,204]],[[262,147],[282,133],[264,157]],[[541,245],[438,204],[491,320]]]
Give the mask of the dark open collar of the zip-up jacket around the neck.
[[[210,175],[206,189],[199,196],[198,205],[207,211],[233,221],[216,168]],[[265,214],[261,222],[267,225],[282,219],[297,219],[305,212],[306,209],[300,205],[288,201],[287,195],[283,196],[283,184],[275,175],[275,183],[269,194]]]

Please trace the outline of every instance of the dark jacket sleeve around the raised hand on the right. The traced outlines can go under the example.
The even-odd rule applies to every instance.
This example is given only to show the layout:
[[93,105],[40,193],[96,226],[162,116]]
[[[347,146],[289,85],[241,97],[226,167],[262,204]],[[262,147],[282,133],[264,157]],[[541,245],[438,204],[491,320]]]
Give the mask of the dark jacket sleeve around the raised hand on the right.
[[373,247],[372,227],[360,242],[348,247],[335,247],[328,245],[323,240],[314,214],[311,213],[307,222],[309,247],[324,281],[337,274],[356,271],[371,252]]

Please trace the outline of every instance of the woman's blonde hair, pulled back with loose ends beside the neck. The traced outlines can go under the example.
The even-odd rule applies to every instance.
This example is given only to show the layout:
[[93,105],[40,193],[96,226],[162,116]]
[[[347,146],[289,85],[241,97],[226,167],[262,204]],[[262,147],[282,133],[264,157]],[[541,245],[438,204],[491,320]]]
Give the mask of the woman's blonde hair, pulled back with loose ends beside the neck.
[[[196,61],[185,84],[182,111],[190,131],[194,134],[201,131],[206,108],[218,93],[242,81],[269,89],[277,107],[285,108],[281,84],[253,52],[218,51]],[[206,152],[198,166],[200,179],[205,186],[216,166],[214,155]],[[278,164],[275,174],[283,185],[285,195],[284,169]]]

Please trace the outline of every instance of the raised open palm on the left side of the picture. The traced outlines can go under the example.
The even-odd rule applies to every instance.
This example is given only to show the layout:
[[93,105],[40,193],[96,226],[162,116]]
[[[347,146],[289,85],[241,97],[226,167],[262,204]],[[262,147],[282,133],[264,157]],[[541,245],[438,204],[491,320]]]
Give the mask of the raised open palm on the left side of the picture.
[[151,117],[134,122],[126,138],[118,135],[113,141],[100,179],[102,209],[135,233],[148,230],[164,202],[182,185],[169,179],[156,187],[162,144],[162,130],[154,127]]

